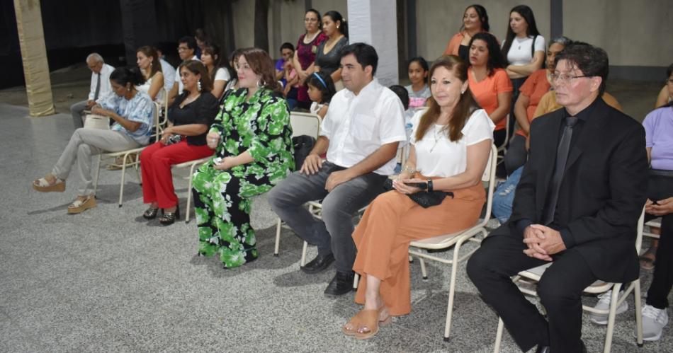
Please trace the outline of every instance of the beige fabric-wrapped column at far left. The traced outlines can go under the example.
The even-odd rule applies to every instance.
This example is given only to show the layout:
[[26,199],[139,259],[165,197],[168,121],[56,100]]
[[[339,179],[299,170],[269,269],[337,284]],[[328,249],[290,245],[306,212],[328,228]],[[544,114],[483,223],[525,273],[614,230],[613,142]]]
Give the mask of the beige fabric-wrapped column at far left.
[[40,1],[14,0],[14,11],[30,115],[43,117],[55,114]]

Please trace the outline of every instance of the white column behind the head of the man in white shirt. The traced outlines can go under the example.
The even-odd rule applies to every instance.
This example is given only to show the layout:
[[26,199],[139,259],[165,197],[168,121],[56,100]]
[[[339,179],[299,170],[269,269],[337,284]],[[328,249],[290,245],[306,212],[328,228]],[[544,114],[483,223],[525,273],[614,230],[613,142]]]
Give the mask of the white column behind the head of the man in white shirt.
[[349,42],[365,42],[375,48],[376,77],[383,86],[400,81],[396,7],[395,0],[348,0]]

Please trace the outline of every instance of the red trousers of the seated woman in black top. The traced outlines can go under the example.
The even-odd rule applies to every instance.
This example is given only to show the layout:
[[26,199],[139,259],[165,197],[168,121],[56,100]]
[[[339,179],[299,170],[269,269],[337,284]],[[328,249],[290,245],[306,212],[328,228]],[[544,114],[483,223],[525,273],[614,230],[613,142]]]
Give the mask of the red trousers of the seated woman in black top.
[[212,155],[213,150],[208,146],[189,145],[185,140],[169,146],[161,142],[147,146],[140,154],[143,202],[157,202],[161,209],[174,207],[178,204],[178,196],[173,187],[171,166]]

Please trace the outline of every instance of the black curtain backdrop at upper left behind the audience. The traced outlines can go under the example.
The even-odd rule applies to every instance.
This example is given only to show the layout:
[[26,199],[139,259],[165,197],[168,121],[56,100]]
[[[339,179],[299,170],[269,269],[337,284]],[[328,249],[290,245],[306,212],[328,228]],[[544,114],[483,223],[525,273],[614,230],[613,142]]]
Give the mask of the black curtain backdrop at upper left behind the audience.
[[[114,66],[135,64],[135,49],[160,44],[177,63],[176,40],[204,28],[228,54],[234,48],[231,17],[236,0],[40,0],[50,71],[84,64],[98,52]],[[0,1],[0,88],[23,85],[13,1]]]

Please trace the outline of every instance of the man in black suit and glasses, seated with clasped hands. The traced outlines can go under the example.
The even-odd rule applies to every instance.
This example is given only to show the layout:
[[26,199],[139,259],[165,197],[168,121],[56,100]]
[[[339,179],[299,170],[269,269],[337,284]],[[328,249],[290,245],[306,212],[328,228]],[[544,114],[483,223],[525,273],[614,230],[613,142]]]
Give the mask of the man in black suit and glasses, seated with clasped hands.
[[[604,50],[579,43],[556,57],[556,110],[531,124],[512,215],[468,262],[484,301],[526,352],[583,352],[582,290],[638,278],[635,236],[647,190],[645,130],[600,98]],[[511,276],[553,261],[538,284],[548,317]]]

